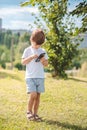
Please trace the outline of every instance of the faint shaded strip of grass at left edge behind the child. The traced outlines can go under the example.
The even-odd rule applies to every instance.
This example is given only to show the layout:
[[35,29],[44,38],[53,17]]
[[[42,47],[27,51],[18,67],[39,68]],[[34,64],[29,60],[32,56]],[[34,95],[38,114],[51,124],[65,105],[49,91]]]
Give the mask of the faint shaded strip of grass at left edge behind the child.
[[16,79],[16,80],[20,80],[21,81],[21,78],[19,78],[16,74],[10,74],[10,73],[7,73],[7,72],[0,72],[0,79],[2,78],[11,78],[11,79]]

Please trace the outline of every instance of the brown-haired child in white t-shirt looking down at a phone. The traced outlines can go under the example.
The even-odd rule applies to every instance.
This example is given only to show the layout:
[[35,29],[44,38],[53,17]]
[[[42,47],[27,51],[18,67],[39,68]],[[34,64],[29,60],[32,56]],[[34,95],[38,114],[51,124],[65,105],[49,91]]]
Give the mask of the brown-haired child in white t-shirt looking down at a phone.
[[[44,41],[44,32],[41,29],[36,29],[30,38],[31,46],[26,48],[22,55],[22,64],[26,65],[25,79],[27,93],[30,94],[27,108],[27,118],[29,120],[41,120],[37,112],[40,103],[40,94],[45,91],[44,66],[48,65],[47,53],[41,48]],[[36,62],[41,53],[45,53],[45,55]]]

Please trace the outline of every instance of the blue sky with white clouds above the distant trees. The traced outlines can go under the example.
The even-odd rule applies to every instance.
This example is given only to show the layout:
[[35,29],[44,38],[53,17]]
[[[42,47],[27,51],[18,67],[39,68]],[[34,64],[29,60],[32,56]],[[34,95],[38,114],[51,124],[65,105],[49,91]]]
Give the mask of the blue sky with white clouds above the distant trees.
[[[33,25],[34,16],[31,13],[39,14],[37,7],[20,7],[21,2],[26,0],[0,0],[0,18],[2,18],[2,28],[5,29],[30,29],[29,24]],[[72,0],[70,0],[71,2]],[[73,0],[69,11],[75,8],[82,0]],[[76,19],[76,24],[81,25],[80,20]]]

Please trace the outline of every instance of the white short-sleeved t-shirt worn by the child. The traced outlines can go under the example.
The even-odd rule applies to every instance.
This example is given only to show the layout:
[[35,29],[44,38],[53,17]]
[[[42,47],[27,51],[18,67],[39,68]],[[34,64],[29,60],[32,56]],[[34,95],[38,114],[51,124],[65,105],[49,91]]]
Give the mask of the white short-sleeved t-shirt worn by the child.
[[[46,51],[42,48],[35,49],[32,46],[26,48],[22,55],[22,58],[27,58],[30,55],[45,53],[45,59],[48,59]],[[25,78],[44,78],[44,66],[41,62],[35,62],[36,59],[31,60],[26,64],[26,75]]]

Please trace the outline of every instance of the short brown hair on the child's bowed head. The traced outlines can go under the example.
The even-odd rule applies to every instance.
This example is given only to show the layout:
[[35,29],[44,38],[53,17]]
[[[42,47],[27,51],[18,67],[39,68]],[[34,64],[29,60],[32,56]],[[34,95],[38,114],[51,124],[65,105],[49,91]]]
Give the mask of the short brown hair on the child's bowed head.
[[33,31],[30,41],[36,42],[37,45],[43,44],[45,41],[44,32],[41,29],[36,29],[35,31]]

